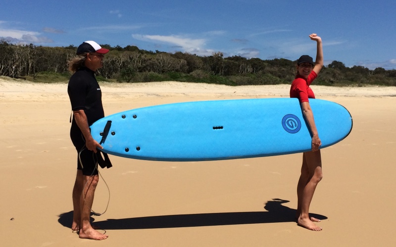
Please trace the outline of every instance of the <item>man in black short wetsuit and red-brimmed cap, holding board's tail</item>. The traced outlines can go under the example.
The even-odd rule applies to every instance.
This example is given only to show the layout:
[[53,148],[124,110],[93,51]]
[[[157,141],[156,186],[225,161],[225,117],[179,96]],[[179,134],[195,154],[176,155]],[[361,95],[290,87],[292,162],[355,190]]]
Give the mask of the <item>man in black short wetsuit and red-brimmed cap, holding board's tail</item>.
[[85,41],[78,46],[77,57],[69,63],[69,70],[74,74],[67,87],[73,110],[70,138],[78,153],[72,230],[77,231],[80,238],[94,240],[108,237],[95,230],[90,223],[91,207],[99,181],[96,153],[97,148],[102,147],[94,140],[89,129],[91,124],[104,117],[95,72],[103,67],[103,57],[108,51],[95,41]]

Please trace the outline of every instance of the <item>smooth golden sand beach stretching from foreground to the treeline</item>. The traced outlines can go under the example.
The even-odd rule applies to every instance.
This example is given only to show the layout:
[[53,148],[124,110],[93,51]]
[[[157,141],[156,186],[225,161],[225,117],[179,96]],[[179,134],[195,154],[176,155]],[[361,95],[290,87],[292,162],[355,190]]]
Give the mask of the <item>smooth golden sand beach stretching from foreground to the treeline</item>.
[[[101,84],[105,114],[164,103],[288,97],[289,85]],[[322,150],[310,211],[321,232],[293,222],[301,154],[216,162],[111,156],[110,190],[93,216],[104,241],[72,233],[76,151],[66,84],[0,78],[1,246],[394,246],[396,88],[312,86],[344,105],[353,129]],[[109,194],[100,180],[93,209]]]

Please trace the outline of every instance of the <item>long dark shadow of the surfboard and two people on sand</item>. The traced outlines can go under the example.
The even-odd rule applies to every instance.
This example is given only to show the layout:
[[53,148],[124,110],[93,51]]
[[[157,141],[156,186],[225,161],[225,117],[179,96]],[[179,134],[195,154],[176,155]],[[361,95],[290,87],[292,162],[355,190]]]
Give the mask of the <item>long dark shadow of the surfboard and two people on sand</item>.
[[[267,211],[263,212],[197,213],[107,219],[97,221],[94,225],[105,230],[125,230],[295,222],[296,209],[283,206],[284,203],[289,203],[289,201],[272,199],[265,204],[264,209]],[[310,216],[320,220],[327,219],[326,216],[320,214],[312,213]],[[94,220],[91,218],[91,222]],[[58,222],[65,227],[71,228],[72,221],[73,211],[59,215]]]

